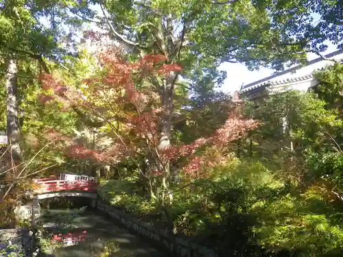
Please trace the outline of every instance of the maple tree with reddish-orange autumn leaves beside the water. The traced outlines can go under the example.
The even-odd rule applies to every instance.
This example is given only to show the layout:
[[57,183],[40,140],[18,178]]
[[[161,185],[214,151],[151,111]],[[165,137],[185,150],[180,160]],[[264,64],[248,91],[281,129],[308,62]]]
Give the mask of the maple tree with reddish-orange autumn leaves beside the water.
[[[113,137],[110,149],[97,152],[71,144],[67,151],[69,156],[93,158],[100,162],[119,162],[125,158],[137,162],[137,157],[143,156],[149,163],[148,171],[143,171],[138,163],[137,167],[147,180],[151,197],[162,203],[166,195],[169,195],[170,201],[172,199],[169,187],[170,162],[182,162],[182,169],[189,179],[204,178],[206,173],[202,173],[202,167],[217,162],[220,156],[226,154],[228,143],[245,136],[258,125],[257,121],[243,119],[237,111],[228,114],[226,123],[212,136],[198,138],[187,145],[161,147],[162,106],[158,95],[149,90],[145,77],[163,76],[181,71],[182,67],[166,64],[167,58],[161,55],[146,55],[130,63],[120,55],[118,49],[99,53],[98,60],[103,72],[83,79],[86,88],[83,92],[64,86],[49,74],[42,75],[40,80],[45,95],[41,95],[40,101],[47,103],[55,99],[63,103],[62,110],[78,106],[106,121]],[[202,147],[210,147],[216,154],[202,156]]]

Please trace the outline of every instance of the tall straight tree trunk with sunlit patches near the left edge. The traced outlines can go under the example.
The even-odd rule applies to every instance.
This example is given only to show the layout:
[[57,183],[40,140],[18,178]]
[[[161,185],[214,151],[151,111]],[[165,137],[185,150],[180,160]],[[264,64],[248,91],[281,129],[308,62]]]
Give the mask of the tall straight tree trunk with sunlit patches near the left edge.
[[9,60],[5,83],[7,90],[7,135],[8,145],[14,161],[21,159],[17,75],[18,67],[16,60]]

